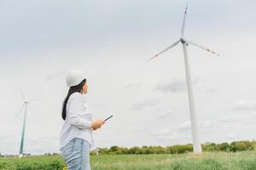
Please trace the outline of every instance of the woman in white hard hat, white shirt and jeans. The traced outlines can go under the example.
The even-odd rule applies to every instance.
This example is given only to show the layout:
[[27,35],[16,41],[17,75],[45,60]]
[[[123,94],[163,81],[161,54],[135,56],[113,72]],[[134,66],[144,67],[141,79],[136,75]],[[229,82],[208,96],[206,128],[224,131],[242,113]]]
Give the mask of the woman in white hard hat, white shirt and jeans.
[[90,149],[94,146],[92,130],[102,127],[104,120],[93,121],[86,103],[88,85],[81,71],[67,74],[67,97],[62,106],[61,153],[68,170],[90,170]]

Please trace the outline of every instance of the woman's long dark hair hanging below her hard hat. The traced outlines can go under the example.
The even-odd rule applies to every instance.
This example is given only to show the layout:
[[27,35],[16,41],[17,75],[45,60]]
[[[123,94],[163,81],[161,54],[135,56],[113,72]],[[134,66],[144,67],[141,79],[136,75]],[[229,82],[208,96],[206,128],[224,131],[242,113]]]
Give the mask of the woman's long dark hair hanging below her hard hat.
[[64,99],[63,105],[62,105],[62,115],[61,115],[61,116],[62,116],[62,119],[63,119],[64,121],[65,121],[66,116],[67,116],[66,106],[67,106],[67,101],[68,101],[68,99],[69,99],[69,96],[70,96],[71,94],[75,93],[75,92],[81,93],[81,90],[82,90],[82,88],[83,88],[85,82],[86,82],[86,79],[84,79],[84,80],[83,80],[82,82],[80,82],[78,85],[72,86],[72,87],[69,88],[68,93],[67,93],[67,97],[66,97],[66,99]]

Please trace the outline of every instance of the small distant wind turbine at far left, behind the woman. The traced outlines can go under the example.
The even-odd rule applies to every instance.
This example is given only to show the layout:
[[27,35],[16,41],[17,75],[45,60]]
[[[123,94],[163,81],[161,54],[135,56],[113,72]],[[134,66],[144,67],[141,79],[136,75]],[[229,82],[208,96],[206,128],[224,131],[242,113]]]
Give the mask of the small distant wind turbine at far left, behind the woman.
[[27,108],[28,105],[31,104],[32,101],[38,100],[38,99],[31,99],[31,100],[26,100],[22,90],[20,89],[20,94],[21,97],[24,101],[23,105],[21,105],[20,107],[20,111],[18,112],[18,114],[15,116],[19,116],[20,112],[22,111],[22,109],[25,107],[25,111],[24,111],[24,116],[23,116],[23,123],[22,123],[22,132],[21,132],[21,140],[20,140],[20,154],[19,157],[23,156],[23,146],[24,146],[24,136],[25,136],[25,130],[26,130],[26,113],[27,113]]

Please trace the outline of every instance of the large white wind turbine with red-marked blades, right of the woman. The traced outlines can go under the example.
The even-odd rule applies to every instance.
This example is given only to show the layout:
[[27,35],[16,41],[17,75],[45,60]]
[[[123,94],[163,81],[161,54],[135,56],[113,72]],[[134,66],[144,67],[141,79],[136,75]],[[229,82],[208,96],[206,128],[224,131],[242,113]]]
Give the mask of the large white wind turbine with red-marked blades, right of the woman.
[[[194,153],[201,153],[201,143],[199,139],[198,134],[198,123],[196,119],[195,114],[195,103],[194,103],[194,96],[193,96],[193,90],[191,86],[191,77],[190,77],[190,69],[189,69],[189,59],[188,59],[188,52],[187,52],[187,46],[193,45],[197,48],[201,48],[203,50],[206,50],[207,52],[210,52],[212,54],[216,54],[219,56],[219,54],[215,53],[214,51],[210,50],[209,48],[205,48],[204,46],[201,46],[200,44],[196,42],[189,41],[184,38],[184,29],[185,29],[185,21],[186,21],[186,15],[187,15],[187,9],[188,9],[188,3],[185,8],[185,13],[183,16],[183,24],[181,29],[181,37],[177,42],[172,43],[171,46],[167,47],[163,51],[161,51],[159,54],[154,55],[154,57],[150,59],[154,59],[155,57],[159,56],[160,54],[165,53],[167,50],[175,47],[179,42],[183,45],[183,56],[184,56],[184,65],[185,65],[185,72],[186,72],[186,82],[187,82],[187,88],[188,88],[188,94],[189,94],[189,111],[190,111],[190,121],[191,121],[191,128],[192,128],[192,140],[193,140],[193,150]],[[148,60],[150,60],[148,59]]]

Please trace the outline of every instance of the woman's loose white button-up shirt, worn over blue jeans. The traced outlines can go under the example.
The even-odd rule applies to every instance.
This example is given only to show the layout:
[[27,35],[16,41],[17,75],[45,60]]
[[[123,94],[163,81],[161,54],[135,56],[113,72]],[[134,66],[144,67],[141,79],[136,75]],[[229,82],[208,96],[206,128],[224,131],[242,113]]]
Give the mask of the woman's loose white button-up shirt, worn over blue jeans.
[[85,139],[94,147],[91,123],[92,112],[86,103],[86,94],[75,92],[67,100],[67,116],[61,128],[60,150],[74,138]]

